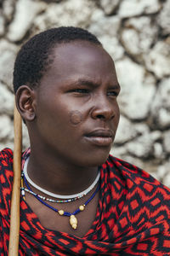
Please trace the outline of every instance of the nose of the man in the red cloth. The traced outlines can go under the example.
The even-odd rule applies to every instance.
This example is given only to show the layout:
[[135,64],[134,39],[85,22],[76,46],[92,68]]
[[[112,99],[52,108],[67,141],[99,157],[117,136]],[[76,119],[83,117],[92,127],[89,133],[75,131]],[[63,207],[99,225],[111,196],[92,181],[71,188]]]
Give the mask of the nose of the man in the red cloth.
[[116,103],[109,102],[108,99],[98,99],[92,109],[91,116],[93,119],[110,120],[115,116]]

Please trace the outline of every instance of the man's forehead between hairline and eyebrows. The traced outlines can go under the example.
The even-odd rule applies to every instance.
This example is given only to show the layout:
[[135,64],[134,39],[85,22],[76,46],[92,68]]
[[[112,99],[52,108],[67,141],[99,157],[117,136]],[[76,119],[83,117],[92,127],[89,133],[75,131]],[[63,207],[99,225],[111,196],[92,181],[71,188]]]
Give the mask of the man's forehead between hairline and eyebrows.
[[113,79],[116,71],[111,56],[100,45],[86,41],[54,46],[45,76],[51,79]]

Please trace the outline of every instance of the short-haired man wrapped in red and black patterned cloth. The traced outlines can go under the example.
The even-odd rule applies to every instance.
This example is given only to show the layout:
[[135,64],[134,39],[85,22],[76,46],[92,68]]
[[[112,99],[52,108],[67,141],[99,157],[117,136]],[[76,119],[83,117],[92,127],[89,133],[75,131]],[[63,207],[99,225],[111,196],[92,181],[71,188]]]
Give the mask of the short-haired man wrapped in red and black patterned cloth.
[[[31,38],[14,64],[31,148],[22,158],[20,255],[169,255],[170,190],[109,155],[120,85],[91,33]],[[1,255],[8,254],[12,152],[1,153]]]

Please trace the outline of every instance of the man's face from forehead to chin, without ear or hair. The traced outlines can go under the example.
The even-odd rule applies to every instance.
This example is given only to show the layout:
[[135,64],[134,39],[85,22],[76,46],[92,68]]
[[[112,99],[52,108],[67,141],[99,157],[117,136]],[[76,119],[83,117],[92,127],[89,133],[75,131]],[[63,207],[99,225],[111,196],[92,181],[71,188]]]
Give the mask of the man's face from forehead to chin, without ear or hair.
[[36,136],[59,160],[99,166],[119,121],[120,88],[111,56],[100,46],[75,41],[57,45],[52,57],[36,92]]

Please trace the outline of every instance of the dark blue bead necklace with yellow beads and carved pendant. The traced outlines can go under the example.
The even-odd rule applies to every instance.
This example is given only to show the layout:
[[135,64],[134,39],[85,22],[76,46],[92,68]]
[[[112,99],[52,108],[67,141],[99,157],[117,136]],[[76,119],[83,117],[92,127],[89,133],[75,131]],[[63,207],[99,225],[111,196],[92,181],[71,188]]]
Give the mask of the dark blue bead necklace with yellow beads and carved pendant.
[[[24,178],[24,181],[25,181],[25,183],[26,183],[27,189],[30,190],[31,192],[33,192],[33,191],[31,190],[29,184],[28,184],[27,181],[26,181],[26,177],[25,177],[25,175],[24,175],[24,172],[22,172],[22,175],[21,175],[21,195],[23,196],[24,200],[26,200],[26,198],[25,198],[25,189],[24,189],[24,184],[23,184],[23,178]],[[74,212],[65,212],[65,211],[62,210],[62,209],[60,209],[60,210],[59,210],[59,209],[56,209],[56,208],[54,208],[54,207],[48,205],[47,202],[42,201],[42,199],[41,199],[39,196],[37,196],[36,193],[34,193],[34,194],[31,193],[31,194],[34,195],[34,196],[37,198],[37,200],[40,201],[44,206],[46,206],[46,207],[52,209],[54,212],[58,212],[60,216],[67,216],[67,217],[70,217],[70,224],[71,224],[71,227],[72,227],[72,229],[76,230],[76,229],[77,229],[77,218],[75,217],[75,215],[77,215],[77,213],[79,213],[79,212],[82,212],[82,211],[85,209],[85,207],[88,205],[88,203],[93,200],[94,196],[95,196],[95,195],[97,194],[97,192],[99,191],[99,186],[100,186],[100,185],[98,184],[97,189],[95,189],[95,191],[94,191],[94,194],[91,195],[90,198],[88,198],[88,200],[85,201],[85,203],[84,203],[83,205],[81,205],[80,207],[78,207],[77,210],[74,211]]]

